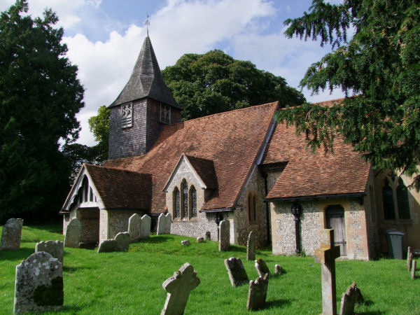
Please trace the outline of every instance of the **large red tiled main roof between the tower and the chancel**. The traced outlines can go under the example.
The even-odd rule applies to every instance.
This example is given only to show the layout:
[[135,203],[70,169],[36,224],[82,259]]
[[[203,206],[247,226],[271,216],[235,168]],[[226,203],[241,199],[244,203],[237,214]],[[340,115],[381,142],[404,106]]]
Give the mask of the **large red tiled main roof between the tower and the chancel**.
[[168,125],[146,155],[109,160],[105,166],[152,174],[151,211],[156,213],[165,211],[166,198],[162,190],[182,153],[211,160],[218,188],[202,209],[233,207],[277,105],[275,102],[251,106]]

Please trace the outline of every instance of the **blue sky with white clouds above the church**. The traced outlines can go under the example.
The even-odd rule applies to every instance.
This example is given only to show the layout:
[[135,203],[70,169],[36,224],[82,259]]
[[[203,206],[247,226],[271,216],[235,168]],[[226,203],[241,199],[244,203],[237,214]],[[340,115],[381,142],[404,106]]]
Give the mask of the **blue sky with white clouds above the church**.
[[[0,11],[14,0],[0,0]],[[160,69],[186,53],[220,49],[235,59],[249,60],[258,69],[286,78],[297,87],[307,68],[331,51],[316,41],[286,38],[283,21],[309,10],[311,0],[28,0],[29,14],[41,16],[51,8],[63,27],[67,57],[78,66],[85,88],[85,107],[77,115],[82,130],[78,143],[92,146],[87,119],[99,106],[111,104],[123,89],[146,36]],[[344,94],[311,95],[309,102],[336,99]],[[182,105],[182,104],[181,104]]]

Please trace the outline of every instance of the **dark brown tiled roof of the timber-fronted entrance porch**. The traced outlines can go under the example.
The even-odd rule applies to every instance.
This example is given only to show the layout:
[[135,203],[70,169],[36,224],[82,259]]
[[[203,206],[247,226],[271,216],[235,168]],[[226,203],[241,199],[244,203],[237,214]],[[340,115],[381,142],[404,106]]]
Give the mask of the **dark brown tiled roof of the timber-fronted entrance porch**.
[[150,209],[151,174],[88,164],[85,167],[106,209]]

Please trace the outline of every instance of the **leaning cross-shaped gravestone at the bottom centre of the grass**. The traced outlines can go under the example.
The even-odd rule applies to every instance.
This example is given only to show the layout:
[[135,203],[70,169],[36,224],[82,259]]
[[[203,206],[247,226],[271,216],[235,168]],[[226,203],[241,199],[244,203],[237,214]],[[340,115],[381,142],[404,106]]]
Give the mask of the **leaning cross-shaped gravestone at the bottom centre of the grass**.
[[200,279],[190,263],[186,262],[174,275],[166,279],[162,287],[167,291],[167,300],[161,315],[181,315],[186,309],[190,291],[197,288]]

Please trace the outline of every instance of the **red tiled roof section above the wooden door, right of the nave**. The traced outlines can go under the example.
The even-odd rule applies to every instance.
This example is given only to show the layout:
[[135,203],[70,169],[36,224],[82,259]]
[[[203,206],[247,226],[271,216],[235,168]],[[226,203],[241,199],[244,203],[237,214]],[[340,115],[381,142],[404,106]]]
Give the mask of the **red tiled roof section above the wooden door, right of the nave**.
[[267,200],[365,193],[370,165],[342,137],[335,138],[333,149],[334,154],[325,155],[323,148],[312,153],[304,134],[297,136],[294,126],[277,125],[262,164],[288,163]]

